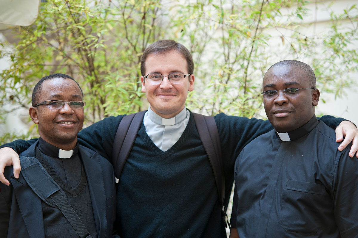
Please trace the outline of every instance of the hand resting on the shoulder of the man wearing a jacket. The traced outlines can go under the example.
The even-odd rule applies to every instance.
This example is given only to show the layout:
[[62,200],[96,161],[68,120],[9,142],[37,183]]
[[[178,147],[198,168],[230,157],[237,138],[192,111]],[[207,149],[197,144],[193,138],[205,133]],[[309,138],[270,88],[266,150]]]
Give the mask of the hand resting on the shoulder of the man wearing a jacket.
[[16,153],[10,147],[4,147],[0,149],[0,182],[5,185],[10,185],[10,182],[4,176],[4,169],[6,166],[14,167],[14,176],[19,178],[21,171],[20,167],[20,158],[18,153]]

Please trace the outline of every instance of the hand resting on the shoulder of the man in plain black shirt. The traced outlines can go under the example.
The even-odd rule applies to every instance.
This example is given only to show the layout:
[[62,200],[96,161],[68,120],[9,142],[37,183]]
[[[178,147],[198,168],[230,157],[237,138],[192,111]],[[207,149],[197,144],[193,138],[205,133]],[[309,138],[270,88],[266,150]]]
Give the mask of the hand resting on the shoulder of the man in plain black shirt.
[[[342,143],[339,145],[338,150],[342,151],[345,147],[352,142],[352,147],[350,147],[349,157],[353,158],[354,153],[358,158],[358,129],[350,121],[342,121],[336,128],[336,141]],[[343,140],[344,138],[344,140]]]

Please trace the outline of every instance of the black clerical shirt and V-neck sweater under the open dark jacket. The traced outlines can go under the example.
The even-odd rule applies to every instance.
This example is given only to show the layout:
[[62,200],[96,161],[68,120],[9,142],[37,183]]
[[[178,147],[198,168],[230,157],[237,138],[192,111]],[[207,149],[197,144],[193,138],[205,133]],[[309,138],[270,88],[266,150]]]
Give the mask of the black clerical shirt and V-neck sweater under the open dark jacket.
[[[40,138],[38,148],[45,159],[45,161],[42,161],[38,158],[40,163],[43,166],[47,163],[54,169],[55,173],[50,173],[50,176],[63,189],[68,203],[81,219],[89,234],[93,238],[97,237],[91,196],[81,161],[83,155],[78,152],[78,143],[73,151],[62,151]],[[42,210],[46,237],[79,237],[57,207],[51,207],[42,201]]]

